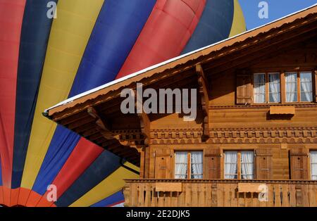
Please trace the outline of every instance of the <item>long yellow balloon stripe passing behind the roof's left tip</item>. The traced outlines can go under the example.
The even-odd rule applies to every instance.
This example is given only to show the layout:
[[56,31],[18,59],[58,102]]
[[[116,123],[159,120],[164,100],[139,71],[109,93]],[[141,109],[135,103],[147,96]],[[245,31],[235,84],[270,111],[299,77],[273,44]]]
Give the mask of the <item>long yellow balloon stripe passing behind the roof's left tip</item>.
[[56,124],[44,109],[68,97],[104,0],[59,0],[47,46],[21,187],[32,189]]

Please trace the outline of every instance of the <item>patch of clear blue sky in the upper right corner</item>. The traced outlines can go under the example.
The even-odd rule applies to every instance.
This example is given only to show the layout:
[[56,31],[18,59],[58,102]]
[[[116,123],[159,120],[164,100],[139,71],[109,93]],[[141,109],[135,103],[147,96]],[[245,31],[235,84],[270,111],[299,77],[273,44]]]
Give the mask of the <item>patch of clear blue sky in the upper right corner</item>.
[[[268,3],[268,18],[259,18],[259,3]],[[247,30],[270,23],[273,20],[307,8],[317,3],[317,0],[239,0],[247,23]]]

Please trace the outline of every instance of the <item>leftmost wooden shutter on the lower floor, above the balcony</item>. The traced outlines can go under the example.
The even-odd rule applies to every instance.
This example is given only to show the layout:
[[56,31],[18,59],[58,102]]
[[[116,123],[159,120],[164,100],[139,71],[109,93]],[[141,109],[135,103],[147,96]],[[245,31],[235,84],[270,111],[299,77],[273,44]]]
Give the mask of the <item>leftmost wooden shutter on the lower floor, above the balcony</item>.
[[155,151],[155,179],[171,178],[172,151],[159,149]]

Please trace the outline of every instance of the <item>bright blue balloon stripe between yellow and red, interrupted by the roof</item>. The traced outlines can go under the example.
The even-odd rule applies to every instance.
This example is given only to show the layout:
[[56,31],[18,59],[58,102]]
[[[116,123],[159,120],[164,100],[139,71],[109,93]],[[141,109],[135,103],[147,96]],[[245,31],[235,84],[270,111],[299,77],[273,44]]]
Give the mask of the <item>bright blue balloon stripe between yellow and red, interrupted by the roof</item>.
[[[69,96],[75,96],[115,79],[154,4],[154,0],[107,0],[104,2]],[[34,191],[39,194],[45,193],[46,187],[58,175],[70,153],[77,148],[75,146],[79,140],[78,134],[65,127],[56,128],[32,188]],[[88,144],[87,149],[92,146],[94,144]],[[75,160],[73,163],[82,162]]]

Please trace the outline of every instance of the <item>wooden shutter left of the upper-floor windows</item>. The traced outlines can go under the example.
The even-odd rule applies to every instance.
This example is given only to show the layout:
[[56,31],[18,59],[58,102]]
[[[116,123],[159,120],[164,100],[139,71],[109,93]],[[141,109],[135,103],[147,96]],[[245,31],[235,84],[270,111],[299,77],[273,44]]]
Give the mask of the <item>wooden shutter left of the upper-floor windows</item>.
[[237,73],[237,104],[251,103],[252,87],[251,87],[251,73],[242,72]]

